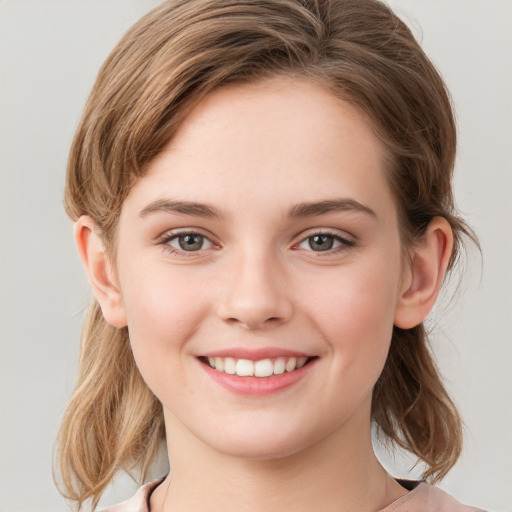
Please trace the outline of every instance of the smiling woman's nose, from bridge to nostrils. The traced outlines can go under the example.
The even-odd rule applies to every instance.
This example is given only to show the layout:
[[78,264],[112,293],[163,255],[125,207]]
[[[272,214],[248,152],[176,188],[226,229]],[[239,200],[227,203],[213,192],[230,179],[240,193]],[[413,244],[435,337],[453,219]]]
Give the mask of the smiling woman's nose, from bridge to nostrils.
[[242,255],[231,262],[223,280],[219,317],[250,330],[287,322],[293,314],[284,269],[275,258]]

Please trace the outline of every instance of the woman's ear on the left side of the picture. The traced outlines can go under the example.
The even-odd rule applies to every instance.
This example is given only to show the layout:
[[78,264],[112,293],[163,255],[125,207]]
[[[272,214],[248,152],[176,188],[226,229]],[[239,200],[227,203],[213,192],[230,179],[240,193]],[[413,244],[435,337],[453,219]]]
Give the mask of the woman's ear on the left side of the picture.
[[75,222],[75,242],[105,320],[114,327],[125,327],[126,314],[115,272],[99,230],[88,215]]

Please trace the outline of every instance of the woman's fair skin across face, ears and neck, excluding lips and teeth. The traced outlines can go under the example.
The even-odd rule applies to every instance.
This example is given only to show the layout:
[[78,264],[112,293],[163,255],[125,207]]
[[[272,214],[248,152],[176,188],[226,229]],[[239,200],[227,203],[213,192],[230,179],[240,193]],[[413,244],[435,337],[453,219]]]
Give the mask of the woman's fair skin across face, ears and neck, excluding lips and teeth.
[[[187,233],[204,236],[198,250],[180,248]],[[315,250],[318,234],[332,249]],[[393,324],[433,306],[451,231],[434,219],[402,246],[383,148],[350,104],[285,78],[220,89],[130,191],[116,261],[89,217],[76,238],[164,407],[172,485],[151,510],[369,512],[406,492],[373,453],[372,388]],[[239,348],[315,359],[293,385],[247,396],[198,359]]]

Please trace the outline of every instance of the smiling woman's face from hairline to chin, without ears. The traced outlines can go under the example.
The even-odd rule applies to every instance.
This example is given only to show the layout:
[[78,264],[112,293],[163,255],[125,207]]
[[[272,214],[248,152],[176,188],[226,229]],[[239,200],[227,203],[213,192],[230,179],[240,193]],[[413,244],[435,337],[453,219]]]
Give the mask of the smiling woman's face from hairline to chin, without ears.
[[208,96],[133,187],[118,287],[175,442],[272,458],[369,432],[403,292],[383,161],[349,104],[274,79]]

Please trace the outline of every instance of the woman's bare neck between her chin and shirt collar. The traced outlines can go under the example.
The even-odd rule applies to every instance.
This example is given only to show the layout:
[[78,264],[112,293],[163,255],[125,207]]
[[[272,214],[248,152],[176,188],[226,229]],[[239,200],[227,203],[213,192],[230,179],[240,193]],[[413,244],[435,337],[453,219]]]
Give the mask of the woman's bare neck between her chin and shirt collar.
[[172,479],[152,495],[155,512],[366,512],[405,492],[375,457],[369,421],[364,433],[337,431],[272,460],[219,453],[172,423],[167,436]]

